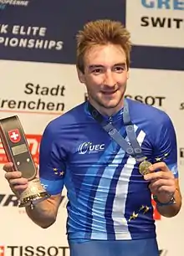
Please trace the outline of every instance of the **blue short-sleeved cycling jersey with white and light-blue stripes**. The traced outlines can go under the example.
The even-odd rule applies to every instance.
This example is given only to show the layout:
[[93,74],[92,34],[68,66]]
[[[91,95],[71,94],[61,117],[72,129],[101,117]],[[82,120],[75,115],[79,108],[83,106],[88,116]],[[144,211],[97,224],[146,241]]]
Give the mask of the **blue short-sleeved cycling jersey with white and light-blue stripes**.
[[[147,160],[164,160],[177,177],[176,134],[168,115],[135,100],[128,104]],[[123,109],[110,120],[128,141],[122,113]],[[69,240],[156,238],[149,183],[141,176],[135,158],[90,115],[88,102],[47,125],[39,172],[51,195],[61,193],[64,186],[68,191]]]

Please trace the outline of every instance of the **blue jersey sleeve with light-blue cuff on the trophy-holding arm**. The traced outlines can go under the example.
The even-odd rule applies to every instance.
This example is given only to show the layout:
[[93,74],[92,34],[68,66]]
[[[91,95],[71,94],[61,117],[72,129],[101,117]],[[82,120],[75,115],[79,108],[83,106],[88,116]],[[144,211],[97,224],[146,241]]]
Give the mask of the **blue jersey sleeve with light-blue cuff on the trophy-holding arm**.
[[48,125],[43,132],[39,150],[39,177],[43,187],[51,195],[62,192],[66,153],[59,146],[59,135]]

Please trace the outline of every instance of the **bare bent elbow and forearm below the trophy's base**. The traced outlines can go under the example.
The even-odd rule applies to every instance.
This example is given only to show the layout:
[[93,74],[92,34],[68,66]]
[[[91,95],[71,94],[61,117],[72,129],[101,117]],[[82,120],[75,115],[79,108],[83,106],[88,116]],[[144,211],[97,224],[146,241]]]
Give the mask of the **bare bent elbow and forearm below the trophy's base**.
[[60,202],[61,194],[51,196],[43,202],[38,202],[33,209],[26,207],[26,212],[33,223],[41,228],[49,228],[56,220]]

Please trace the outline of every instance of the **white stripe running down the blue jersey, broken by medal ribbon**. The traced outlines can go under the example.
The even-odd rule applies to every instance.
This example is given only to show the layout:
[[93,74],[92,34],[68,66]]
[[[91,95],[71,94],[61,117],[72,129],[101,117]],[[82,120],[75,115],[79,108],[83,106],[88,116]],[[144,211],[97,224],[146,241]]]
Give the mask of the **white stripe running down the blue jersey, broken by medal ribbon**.
[[[135,125],[134,127],[136,130],[137,126]],[[137,141],[139,142],[140,146],[144,141],[145,136],[146,133],[144,131],[141,131],[137,136]],[[130,156],[121,171],[120,178],[116,186],[115,200],[112,210],[112,219],[114,221],[116,239],[131,239],[128,223],[125,219],[125,203],[128,196],[131,172],[134,169],[135,163],[135,158]]]

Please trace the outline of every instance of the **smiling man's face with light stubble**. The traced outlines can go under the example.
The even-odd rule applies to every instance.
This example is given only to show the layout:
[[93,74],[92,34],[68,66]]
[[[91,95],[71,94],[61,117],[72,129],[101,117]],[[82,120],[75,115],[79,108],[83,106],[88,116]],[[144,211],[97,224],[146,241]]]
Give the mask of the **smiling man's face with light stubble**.
[[[86,85],[89,101],[105,113],[123,106],[128,71],[125,51],[118,45],[96,45],[84,55],[84,74],[79,80]],[[115,110],[115,111],[114,111]]]

